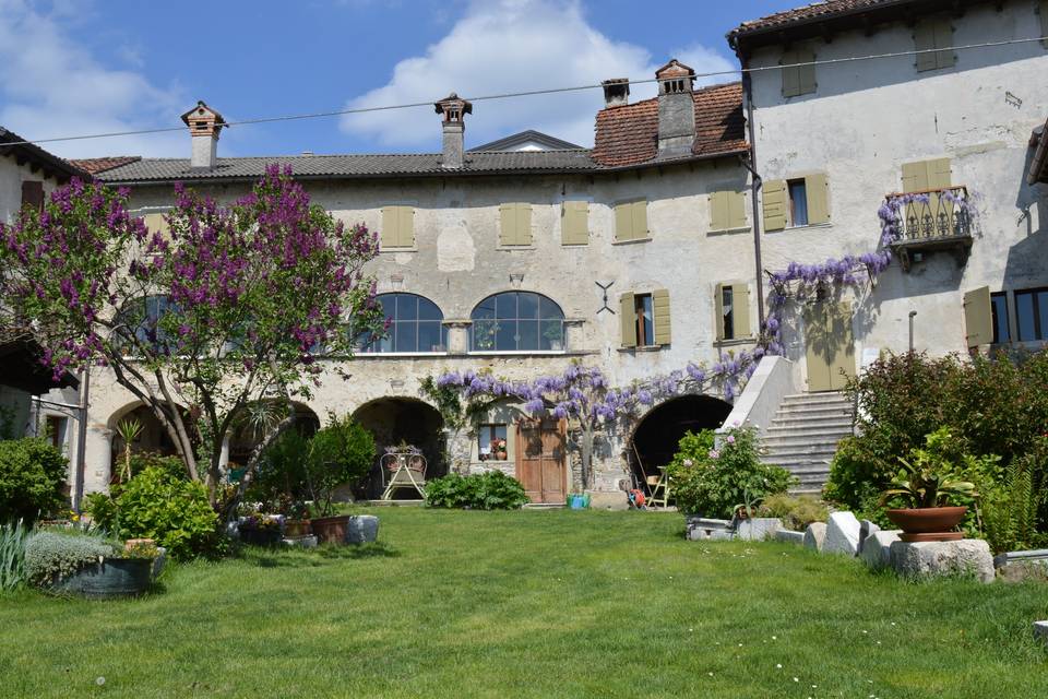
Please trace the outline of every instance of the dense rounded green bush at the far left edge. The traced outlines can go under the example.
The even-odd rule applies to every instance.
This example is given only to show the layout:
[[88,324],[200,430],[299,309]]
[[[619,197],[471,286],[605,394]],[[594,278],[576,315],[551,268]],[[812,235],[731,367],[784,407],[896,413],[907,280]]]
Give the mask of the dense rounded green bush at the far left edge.
[[0,441],[0,522],[33,521],[60,510],[69,461],[46,439]]

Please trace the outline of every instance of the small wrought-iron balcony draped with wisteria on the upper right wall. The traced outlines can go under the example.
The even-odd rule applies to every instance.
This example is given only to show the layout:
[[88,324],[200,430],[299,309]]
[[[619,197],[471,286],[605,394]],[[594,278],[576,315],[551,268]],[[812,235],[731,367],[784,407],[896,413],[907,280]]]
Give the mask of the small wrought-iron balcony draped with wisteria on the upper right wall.
[[888,205],[896,212],[895,238],[889,248],[903,271],[925,254],[952,252],[964,266],[972,249],[973,202],[963,186],[889,194]]

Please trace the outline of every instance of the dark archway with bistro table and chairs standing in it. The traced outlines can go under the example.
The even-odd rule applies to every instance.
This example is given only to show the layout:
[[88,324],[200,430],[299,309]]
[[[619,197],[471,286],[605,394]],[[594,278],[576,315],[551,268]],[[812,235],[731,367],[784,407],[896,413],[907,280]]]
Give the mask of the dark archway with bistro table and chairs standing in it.
[[[444,462],[444,420],[432,405],[414,398],[380,398],[357,408],[353,418],[374,436],[379,455],[385,452],[386,447],[406,442],[421,449],[426,457],[427,481],[448,473]],[[376,459],[365,486],[366,497],[378,498],[382,488],[382,473]],[[407,497],[410,494],[405,491],[403,495]]]

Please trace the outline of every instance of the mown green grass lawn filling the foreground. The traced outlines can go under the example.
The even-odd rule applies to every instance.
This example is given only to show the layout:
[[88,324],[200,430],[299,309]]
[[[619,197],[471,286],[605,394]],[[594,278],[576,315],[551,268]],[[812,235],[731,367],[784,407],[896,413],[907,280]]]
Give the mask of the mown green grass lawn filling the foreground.
[[0,597],[0,696],[1048,696],[1045,585],[691,543],[677,514],[370,511],[374,547]]

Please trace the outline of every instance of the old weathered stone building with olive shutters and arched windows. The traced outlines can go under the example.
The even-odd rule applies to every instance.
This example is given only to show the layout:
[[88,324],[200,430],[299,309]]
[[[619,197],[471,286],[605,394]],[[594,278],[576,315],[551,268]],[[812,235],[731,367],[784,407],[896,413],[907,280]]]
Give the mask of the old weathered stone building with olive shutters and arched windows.
[[[422,446],[436,473],[502,467],[536,501],[573,487],[565,450],[517,449],[513,405],[449,443],[422,377],[523,380],[579,360],[624,384],[749,348],[771,316],[784,356],[734,404],[676,399],[605,442],[594,491],[618,499],[638,455],[659,465],[683,429],[726,416],[760,425],[771,458],[814,488],[850,429],[837,391],[881,352],[1033,347],[1048,333],[1048,60],[1032,40],[1045,35],[1045,0],[829,0],[730,32],[741,83],[695,88],[670,61],[658,96],[631,103],[628,81],[606,81],[592,150],[527,132],[468,150],[483,108],[452,94],[434,105],[441,153],[223,158],[224,121],[201,103],[183,117],[190,158],[81,165],[130,187],[152,227],[176,181],[229,201],[277,162],[314,202],[378,229],[391,336],[303,416],[354,414],[380,445]],[[896,193],[910,194],[902,237],[874,274],[855,260],[885,249],[878,211]],[[772,273],[845,256],[855,283],[796,298],[777,276],[789,300],[773,303]],[[92,387],[84,477],[104,487],[112,429],[140,408],[104,371]],[[555,443],[563,429],[549,427]],[[502,437],[509,459],[481,460]],[[159,430],[143,439],[163,447]],[[234,439],[230,459],[243,448]]]

